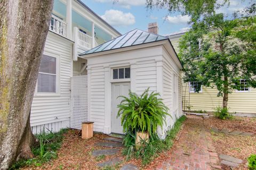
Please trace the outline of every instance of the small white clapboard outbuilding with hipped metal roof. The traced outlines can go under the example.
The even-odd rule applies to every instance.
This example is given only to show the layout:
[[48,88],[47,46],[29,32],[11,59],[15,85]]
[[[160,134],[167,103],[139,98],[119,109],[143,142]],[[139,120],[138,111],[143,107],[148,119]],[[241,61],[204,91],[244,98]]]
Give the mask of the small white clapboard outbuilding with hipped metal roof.
[[182,65],[167,37],[134,29],[80,54],[87,60],[88,118],[94,131],[123,133],[117,105],[129,90],[159,92],[170,109],[163,131],[182,115]]

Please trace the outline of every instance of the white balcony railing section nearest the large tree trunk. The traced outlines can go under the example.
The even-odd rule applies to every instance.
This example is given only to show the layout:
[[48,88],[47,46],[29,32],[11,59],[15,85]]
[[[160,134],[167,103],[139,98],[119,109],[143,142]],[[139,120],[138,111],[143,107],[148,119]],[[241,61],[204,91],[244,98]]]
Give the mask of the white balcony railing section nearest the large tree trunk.
[[49,30],[58,33],[59,35],[66,37],[67,36],[67,23],[62,21],[58,17],[52,15],[50,28]]

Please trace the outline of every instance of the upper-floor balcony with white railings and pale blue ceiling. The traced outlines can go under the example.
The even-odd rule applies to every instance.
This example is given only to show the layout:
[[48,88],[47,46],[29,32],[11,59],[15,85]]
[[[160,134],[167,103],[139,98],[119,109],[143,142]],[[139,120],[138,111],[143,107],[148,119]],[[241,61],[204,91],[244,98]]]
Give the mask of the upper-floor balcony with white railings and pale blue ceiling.
[[54,0],[49,30],[74,41],[74,61],[79,53],[120,35],[80,0]]

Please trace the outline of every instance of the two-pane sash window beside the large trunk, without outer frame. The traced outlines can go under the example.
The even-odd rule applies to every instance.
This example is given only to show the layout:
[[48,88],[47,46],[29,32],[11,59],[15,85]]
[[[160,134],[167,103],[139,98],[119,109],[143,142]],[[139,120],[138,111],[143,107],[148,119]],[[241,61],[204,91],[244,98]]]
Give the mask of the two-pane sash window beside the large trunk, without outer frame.
[[37,79],[37,92],[56,93],[57,58],[43,55]]

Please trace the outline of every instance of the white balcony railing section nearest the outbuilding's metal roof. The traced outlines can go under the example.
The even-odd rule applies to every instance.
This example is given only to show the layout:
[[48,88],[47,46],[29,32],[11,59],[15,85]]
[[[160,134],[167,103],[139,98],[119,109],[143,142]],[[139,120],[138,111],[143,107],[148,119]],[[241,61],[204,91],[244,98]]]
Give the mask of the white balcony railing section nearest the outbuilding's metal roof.
[[77,41],[78,47],[86,51],[91,49],[92,37],[81,31],[77,31],[77,32],[78,32],[78,41]]

